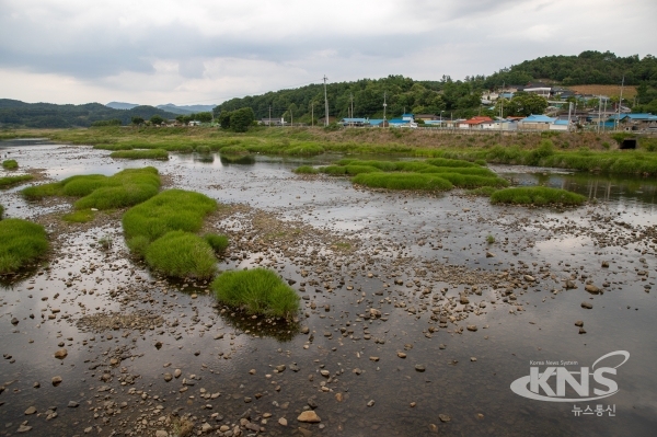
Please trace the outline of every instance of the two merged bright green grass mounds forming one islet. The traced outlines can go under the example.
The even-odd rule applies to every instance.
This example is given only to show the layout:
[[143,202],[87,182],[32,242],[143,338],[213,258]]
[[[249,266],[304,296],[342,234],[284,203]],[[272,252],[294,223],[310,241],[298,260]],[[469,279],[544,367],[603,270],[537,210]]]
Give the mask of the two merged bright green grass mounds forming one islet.
[[127,245],[135,256],[166,276],[209,278],[216,271],[215,246],[220,249],[222,242],[195,233],[216,209],[217,202],[199,193],[162,192],[124,215]]

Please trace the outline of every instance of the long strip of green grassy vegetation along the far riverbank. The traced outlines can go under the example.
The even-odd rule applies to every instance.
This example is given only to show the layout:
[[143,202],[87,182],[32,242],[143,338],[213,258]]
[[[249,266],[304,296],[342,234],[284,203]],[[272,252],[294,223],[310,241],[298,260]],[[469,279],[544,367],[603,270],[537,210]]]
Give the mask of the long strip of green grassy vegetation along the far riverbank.
[[[596,133],[470,133],[431,129],[252,128],[235,134],[211,127],[102,127],[5,130],[0,138],[46,136],[112,151],[221,151],[310,157],[321,153],[447,158],[471,163],[556,166],[615,174],[657,174],[657,138],[638,137],[637,150],[619,150],[622,135]],[[230,154],[223,154],[222,157]]]

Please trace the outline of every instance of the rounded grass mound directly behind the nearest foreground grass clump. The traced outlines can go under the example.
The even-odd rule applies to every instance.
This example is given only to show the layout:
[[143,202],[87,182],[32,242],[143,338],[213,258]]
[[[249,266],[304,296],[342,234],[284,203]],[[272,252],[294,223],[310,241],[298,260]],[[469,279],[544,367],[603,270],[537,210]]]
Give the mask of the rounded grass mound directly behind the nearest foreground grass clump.
[[171,231],[148,245],[147,264],[166,276],[210,278],[217,268],[208,242],[189,232]]

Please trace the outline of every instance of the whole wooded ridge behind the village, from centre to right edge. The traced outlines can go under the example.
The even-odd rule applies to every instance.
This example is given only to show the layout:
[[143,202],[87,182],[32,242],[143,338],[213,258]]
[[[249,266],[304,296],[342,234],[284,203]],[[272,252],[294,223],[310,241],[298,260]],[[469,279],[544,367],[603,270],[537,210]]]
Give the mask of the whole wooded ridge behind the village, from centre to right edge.
[[[637,103],[647,104],[655,99],[657,88],[657,58],[647,55],[619,57],[612,53],[584,51],[577,56],[548,56],[523,61],[491,76],[471,76],[463,81],[452,81],[443,76],[439,81],[414,81],[402,76],[384,79],[362,79],[355,82],[327,85],[328,113],[338,118],[347,117],[354,102],[354,116],[383,117],[383,94],[387,95],[387,116],[400,116],[403,112],[429,113],[443,116],[469,117],[482,111],[481,92],[506,84],[527,84],[535,80],[549,80],[555,84],[625,84],[639,87]],[[310,84],[293,90],[280,90],[266,94],[232,99],[215,108],[233,111],[250,106],[256,118],[285,117],[286,122],[315,123],[324,116],[324,87]],[[482,112],[483,113],[483,112]],[[291,117],[290,117],[291,114]]]

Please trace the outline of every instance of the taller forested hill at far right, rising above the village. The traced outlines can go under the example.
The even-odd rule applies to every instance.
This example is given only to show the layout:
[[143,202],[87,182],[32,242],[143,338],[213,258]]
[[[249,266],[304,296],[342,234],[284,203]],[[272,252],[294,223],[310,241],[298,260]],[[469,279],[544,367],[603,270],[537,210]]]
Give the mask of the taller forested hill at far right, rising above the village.
[[562,85],[621,84],[625,77],[626,85],[644,82],[657,87],[657,58],[646,55],[621,57],[610,51],[583,51],[577,56],[545,56],[526,60],[517,66],[503,69],[484,79],[485,88],[499,87],[503,82],[523,84],[531,80],[548,79]]

